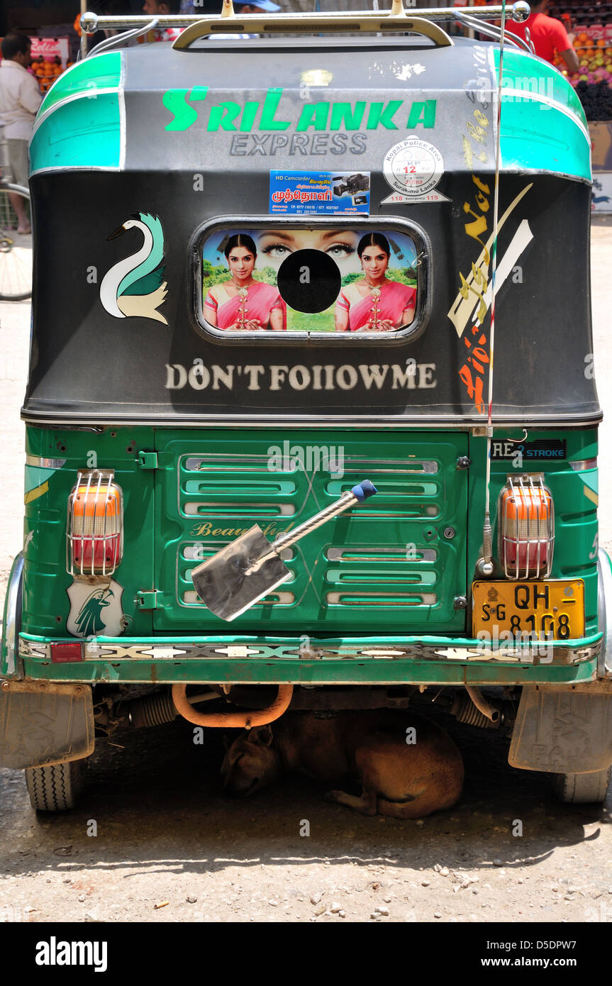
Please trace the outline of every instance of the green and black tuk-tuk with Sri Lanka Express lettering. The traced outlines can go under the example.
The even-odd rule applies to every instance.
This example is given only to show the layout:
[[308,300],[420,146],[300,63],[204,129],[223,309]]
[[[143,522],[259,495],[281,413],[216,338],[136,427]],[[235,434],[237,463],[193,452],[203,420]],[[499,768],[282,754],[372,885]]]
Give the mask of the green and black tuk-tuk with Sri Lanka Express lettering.
[[[564,800],[605,797],[588,132],[556,69],[450,13],[472,23],[200,19],[46,95],[0,690],[35,808],[75,804],[116,725],[432,686]],[[366,479],[235,619],[198,595],[254,525],[274,541]]]

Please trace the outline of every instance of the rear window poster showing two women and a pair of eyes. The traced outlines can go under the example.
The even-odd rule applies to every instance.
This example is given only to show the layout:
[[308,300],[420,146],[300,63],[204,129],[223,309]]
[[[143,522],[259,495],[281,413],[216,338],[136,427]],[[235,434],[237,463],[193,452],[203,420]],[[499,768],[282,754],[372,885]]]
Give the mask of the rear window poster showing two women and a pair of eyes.
[[417,292],[416,245],[395,230],[217,231],[202,247],[203,315],[229,332],[396,332]]

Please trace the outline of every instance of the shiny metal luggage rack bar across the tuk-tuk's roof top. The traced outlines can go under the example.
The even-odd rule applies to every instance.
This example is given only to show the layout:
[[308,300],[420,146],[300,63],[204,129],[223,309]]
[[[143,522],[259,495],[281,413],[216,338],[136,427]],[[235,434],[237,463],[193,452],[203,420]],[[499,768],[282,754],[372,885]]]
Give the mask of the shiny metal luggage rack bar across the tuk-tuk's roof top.
[[[191,15],[175,14],[168,17],[158,16],[153,21],[146,16],[117,16],[104,17],[88,12],[81,17],[81,29],[84,34],[93,35],[100,29],[140,29],[138,34],[144,34],[154,28],[183,28],[173,47],[184,50],[192,41],[204,35],[219,34],[265,34],[265,35],[307,35],[323,33],[415,33],[429,37],[440,47],[452,44],[452,39],[438,27],[438,21],[472,21],[500,20],[504,8],[492,7],[439,7],[439,8],[410,8],[405,10],[402,0],[393,0],[393,6],[388,13],[381,11],[347,11],[309,14],[246,14],[238,17],[234,11],[232,0],[223,0],[223,10],[219,17],[193,18]],[[507,5],[506,17],[518,23],[526,21],[530,8],[524,0]],[[466,23],[467,27],[473,25]],[[491,29],[499,32],[499,28]],[[120,35],[119,35],[120,36]],[[135,36],[135,34],[134,34]],[[118,38],[109,38],[118,40]],[[105,42],[102,42],[105,44]],[[98,46],[97,46],[98,47]],[[96,49],[94,49],[96,50]]]

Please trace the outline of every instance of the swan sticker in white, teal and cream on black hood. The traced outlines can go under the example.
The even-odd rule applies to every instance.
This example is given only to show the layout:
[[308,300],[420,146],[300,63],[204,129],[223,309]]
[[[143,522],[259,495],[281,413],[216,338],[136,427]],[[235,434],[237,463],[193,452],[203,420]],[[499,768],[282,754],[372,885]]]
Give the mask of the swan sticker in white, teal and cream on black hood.
[[155,318],[168,325],[168,320],[157,311],[168,294],[162,223],[159,216],[137,212],[111,233],[108,240],[115,240],[125,230],[132,229],[140,230],[144,243],[106,271],[100,286],[102,306],[115,318]]

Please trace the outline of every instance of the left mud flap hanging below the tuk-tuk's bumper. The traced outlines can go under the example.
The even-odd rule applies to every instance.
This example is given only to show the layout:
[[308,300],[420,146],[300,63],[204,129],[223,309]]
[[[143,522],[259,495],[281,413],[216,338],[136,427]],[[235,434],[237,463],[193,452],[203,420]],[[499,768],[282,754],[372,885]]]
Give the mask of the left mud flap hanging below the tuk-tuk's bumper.
[[42,767],[93,752],[91,685],[2,682],[0,767]]

